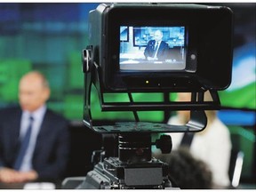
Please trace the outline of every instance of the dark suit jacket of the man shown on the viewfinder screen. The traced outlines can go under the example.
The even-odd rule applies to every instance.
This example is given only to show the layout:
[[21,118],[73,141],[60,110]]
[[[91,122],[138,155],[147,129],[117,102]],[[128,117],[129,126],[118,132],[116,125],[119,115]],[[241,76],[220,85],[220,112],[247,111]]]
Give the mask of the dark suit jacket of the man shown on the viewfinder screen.
[[[155,40],[150,40],[148,42],[148,45],[144,51],[144,55],[146,58],[154,57],[155,44],[156,44]],[[169,54],[169,45],[166,44],[164,41],[162,41],[161,44],[159,45],[156,57],[158,58],[158,60],[166,60],[168,59],[168,54]]]

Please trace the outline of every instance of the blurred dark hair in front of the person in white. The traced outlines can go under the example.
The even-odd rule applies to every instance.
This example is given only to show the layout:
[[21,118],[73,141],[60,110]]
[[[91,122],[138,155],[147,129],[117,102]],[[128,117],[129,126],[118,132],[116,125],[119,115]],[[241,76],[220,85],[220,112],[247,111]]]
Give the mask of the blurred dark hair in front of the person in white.
[[168,164],[172,187],[180,189],[212,188],[212,172],[207,164],[191,155],[188,148],[173,150],[169,155],[156,158]]

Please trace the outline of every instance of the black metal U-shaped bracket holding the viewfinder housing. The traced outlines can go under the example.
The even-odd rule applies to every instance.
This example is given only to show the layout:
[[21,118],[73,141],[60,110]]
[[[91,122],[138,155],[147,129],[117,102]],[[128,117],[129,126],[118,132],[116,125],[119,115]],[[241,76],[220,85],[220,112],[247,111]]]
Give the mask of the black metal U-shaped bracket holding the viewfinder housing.
[[[105,102],[100,80],[100,66],[92,61],[92,46],[83,51],[84,71],[84,124],[95,132],[116,133],[116,132],[200,132],[207,124],[204,110],[220,108],[218,92],[212,91],[212,101],[204,101],[204,92],[192,92],[189,102]],[[116,123],[114,125],[98,125],[92,121],[91,90],[92,84],[100,97],[102,111],[152,111],[152,110],[190,110],[190,120],[184,125],[153,124],[144,122]],[[97,124],[97,125],[95,125]]]

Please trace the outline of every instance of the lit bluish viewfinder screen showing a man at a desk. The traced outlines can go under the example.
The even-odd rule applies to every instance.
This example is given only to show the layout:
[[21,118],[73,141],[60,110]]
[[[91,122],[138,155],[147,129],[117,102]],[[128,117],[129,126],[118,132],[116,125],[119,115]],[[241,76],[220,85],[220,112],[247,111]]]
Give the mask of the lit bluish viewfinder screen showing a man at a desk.
[[168,71],[186,68],[186,28],[120,27],[120,71]]

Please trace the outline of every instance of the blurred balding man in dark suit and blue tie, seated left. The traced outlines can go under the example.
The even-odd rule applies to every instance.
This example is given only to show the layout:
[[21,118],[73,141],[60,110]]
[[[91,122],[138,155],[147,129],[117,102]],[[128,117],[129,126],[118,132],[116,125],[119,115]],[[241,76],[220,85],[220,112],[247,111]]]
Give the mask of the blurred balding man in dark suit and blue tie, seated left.
[[50,88],[36,71],[20,79],[20,107],[0,111],[0,182],[58,180],[68,160],[68,121],[46,108]]

